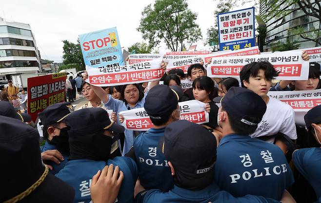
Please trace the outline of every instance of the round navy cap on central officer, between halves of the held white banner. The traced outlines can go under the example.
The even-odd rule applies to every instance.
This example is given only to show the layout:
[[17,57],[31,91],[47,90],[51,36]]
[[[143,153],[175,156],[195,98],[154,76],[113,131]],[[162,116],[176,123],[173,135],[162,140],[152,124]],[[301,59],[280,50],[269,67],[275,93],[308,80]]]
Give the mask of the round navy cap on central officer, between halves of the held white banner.
[[168,117],[178,105],[179,96],[177,92],[167,85],[153,87],[145,98],[144,109],[153,119]]

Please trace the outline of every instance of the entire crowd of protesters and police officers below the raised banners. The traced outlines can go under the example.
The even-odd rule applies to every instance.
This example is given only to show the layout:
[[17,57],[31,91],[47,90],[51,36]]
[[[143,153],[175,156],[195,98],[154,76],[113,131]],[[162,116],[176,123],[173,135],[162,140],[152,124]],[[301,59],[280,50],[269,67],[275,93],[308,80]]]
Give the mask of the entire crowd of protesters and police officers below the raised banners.
[[[41,148],[9,84],[0,94],[0,202],[321,203],[321,106],[294,112],[267,95],[319,89],[320,64],[310,62],[308,80],[273,86],[278,74],[262,61],[245,65],[240,81],[210,78],[202,63],[171,70],[163,85],[98,87],[86,73],[70,77],[69,102],[39,113]],[[183,91],[185,78],[193,83]],[[76,91],[86,101],[74,107]],[[207,123],[180,120],[179,102],[189,100],[206,104]],[[120,112],[137,108],[153,128],[121,125]]]

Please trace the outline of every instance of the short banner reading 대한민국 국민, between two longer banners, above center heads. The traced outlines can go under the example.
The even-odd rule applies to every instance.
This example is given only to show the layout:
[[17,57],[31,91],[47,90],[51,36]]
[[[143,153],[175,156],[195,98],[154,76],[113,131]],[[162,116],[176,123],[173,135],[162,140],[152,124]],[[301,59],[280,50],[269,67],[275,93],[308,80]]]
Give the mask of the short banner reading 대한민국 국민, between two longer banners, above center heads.
[[188,58],[169,60],[168,65],[166,67],[166,72],[169,72],[172,69],[181,69],[183,70],[184,74],[187,74],[188,67],[192,64],[200,63],[201,60],[201,56],[191,56]]

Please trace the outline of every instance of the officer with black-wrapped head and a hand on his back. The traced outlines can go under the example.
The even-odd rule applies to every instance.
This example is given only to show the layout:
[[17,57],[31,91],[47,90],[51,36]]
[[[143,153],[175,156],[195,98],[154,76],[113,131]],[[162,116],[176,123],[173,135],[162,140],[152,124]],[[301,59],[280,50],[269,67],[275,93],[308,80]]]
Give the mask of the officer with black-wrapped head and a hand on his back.
[[65,118],[65,123],[70,127],[70,157],[56,176],[74,187],[74,203],[91,201],[92,177],[106,165],[119,167],[124,175],[118,202],[132,203],[137,180],[136,163],[128,157],[109,159],[113,133],[122,133],[124,127],[111,122],[108,112],[101,108],[74,111]]

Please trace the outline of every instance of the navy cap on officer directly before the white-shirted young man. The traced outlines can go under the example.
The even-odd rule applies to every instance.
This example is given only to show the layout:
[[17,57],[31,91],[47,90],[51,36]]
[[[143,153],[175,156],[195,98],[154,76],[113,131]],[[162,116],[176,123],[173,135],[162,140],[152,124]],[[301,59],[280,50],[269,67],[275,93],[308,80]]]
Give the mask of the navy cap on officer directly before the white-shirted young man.
[[[213,101],[221,103],[229,116],[249,126],[258,125],[266,111],[266,104],[261,96],[241,87],[231,87],[225,96],[215,97]],[[260,122],[251,122],[249,117],[258,118]]]

